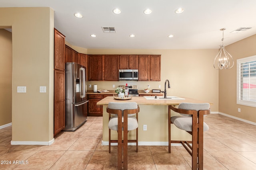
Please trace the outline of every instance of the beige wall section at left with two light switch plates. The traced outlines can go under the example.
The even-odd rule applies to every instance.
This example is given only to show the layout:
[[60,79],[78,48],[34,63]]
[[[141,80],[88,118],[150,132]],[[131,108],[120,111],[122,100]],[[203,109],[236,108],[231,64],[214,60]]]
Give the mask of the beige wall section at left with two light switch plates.
[[[12,141],[53,139],[54,11],[0,8],[0,28],[12,27]],[[26,86],[26,93],[17,93]],[[46,93],[39,87],[46,86]]]

